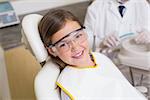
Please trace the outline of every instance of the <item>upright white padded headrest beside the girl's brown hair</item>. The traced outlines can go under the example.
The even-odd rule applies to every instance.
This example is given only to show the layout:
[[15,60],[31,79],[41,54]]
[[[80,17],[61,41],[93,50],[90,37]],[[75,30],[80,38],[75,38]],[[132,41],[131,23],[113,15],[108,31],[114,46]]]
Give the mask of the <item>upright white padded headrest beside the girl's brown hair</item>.
[[39,62],[43,62],[48,57],[48,52],[40,38],[38,23],[42,19],[42,15],[29,14],[22,20],[22,29],[29,42],[29,45]]

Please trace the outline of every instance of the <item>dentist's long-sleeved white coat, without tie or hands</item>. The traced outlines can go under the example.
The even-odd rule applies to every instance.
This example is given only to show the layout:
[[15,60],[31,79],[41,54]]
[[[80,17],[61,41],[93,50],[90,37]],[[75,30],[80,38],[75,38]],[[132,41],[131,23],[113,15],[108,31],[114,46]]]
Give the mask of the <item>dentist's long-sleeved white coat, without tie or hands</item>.
[[150,31],[150,5],[146,0],[129,0],[123,18],[118,11],[117,0],[95,0],[87,10],[84,25],[89,35],[90,46],[96,34],[96,47],[114,31],[119,36],[146,29]]

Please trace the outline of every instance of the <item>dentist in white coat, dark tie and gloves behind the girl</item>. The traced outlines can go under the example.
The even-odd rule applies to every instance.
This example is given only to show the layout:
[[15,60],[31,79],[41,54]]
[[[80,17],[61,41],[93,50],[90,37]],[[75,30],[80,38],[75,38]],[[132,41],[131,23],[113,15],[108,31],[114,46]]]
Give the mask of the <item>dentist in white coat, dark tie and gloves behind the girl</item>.
[[[109,51],[121,37],[138,33],[138,44],[150,43],[150,6],[146,0],[95,0],[87,10],[84,25],[91,48]],[[93,39],[94,37],[94,39]]]

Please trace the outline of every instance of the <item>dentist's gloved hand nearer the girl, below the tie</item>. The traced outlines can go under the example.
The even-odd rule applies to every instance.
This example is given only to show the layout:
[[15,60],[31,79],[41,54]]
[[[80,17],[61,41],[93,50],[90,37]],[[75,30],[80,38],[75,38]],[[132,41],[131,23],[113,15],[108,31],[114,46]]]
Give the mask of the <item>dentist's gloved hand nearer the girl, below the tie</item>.
[[103,41],[102,45],[107,48],[114,48],[120,44],[119,36],[117,33],[108,35]]

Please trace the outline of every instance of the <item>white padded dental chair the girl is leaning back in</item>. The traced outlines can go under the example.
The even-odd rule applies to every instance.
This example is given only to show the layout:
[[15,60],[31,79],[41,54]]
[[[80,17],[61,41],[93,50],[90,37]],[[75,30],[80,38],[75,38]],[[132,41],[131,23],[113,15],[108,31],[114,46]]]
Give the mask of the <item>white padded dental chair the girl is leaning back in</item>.
[[[54,64],[44,47],[38,31],[42,15],[26,15],[22,20],[22,42],[36,57],[42,69],[35,77],[34,90],[37,100],[60,100],[59,88],[55,84],[60,73],[59,66]],[[43,62],[45,64],[43,64]]]

